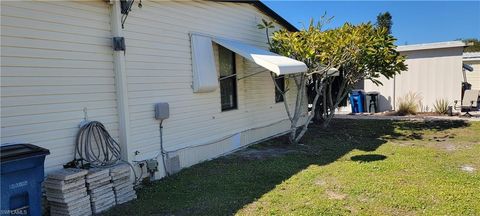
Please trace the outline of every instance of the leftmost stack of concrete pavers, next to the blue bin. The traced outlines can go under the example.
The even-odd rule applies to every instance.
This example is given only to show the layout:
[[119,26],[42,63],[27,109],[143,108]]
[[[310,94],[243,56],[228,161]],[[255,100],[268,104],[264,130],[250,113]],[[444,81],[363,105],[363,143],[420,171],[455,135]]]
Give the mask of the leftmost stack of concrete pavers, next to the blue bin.
[[47,176],[43,185],[52,216],[92,215],[85,187],[87,173],[87,170],[68,168]]

